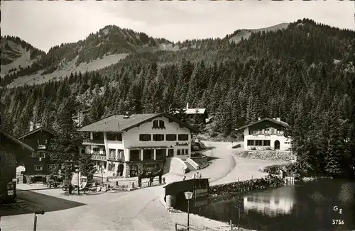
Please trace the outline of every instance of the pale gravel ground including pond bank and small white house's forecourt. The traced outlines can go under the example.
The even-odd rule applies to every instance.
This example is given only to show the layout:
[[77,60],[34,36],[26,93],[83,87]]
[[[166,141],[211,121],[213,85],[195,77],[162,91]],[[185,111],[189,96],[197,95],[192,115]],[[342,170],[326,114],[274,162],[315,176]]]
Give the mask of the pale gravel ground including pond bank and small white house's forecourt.
[[[205,142],[215,147],[206,152],[215,157],[209,167],[199,170],[211,185],[262,177],[258,169],[274,164],[256,159],[234,157],[228,142]],[[234,144],[235,145],[235,144]],[[195,171],[187,173],[192,177]],[[167,174],[168,182],[180,181],[183,176]],[[63,196],[61,189],[35,191],[48,196],[84,203],[76,208],[45,213],[38,217],[37,230],[175,230],[175,222],[186,223],[185,213],[168,213],[159,201],[163,186],[142,188],[131,192],[104,193],[92,196]],[[50,200],[50,198],[46,198]],[[53,198],[53,201],[57,198]],[[50,203],[50,202],[48,202]],[[21,221],[21,222],[19,222]],[[228,230],[228,225],[191,215],[191,225],[200,230]],[[33,214],[1,218],[1,230],[32,230]]]

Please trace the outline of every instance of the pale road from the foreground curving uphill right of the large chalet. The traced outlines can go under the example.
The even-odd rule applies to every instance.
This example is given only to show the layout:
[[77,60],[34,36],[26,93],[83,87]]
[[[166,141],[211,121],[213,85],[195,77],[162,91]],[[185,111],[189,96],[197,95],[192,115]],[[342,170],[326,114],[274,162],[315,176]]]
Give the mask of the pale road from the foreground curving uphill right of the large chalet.
[[[206,169],[201,169],[203,177],[209,177],[210,181],[236,181],[235,176],[229,174],[235,169],[236,161],[231,152],[230,143],[206,142],[207,145],[216,147],[209,151],[208,155],[217,157]],[[238,163],[237,163],[238,164]],[[258,169],[254,169],[257,171]],[[187,174],[190,177],[194,172]],[[178,181],[182,176],[168,174],[168,181]],[[213,182],[212,182],[213,184]],[[60,190],[59,190],[60,191]],[[36,191],[48,195],[59,195],[59,191]],[[21,192],[23,193],[23,192]],[[174,216],[167,213],[163,205],[157,201],[163,193],[163,186],[142,188],[140,190],[124,193],[104,193],[95,196],[65,196],[65,198],[85,203],[86,205],[75,208],[58,210],[45,213],[38,218],[38,230],[174,230]],[[45,203],[48,208],[53,206],[57,198],[40,196],[33,193],[22,194],[23,199]],[[22,197],[22,196],[21,196]],[[64,198],[64,196],[62,196]],[[61,201],[63,206],[72,204]],[[54,205],[60,208],[62,205]],[[21,222],[18,222],[21,220]],[[33,227],[33,215],[16,215],[1,218],[1,230],[31,230]]]

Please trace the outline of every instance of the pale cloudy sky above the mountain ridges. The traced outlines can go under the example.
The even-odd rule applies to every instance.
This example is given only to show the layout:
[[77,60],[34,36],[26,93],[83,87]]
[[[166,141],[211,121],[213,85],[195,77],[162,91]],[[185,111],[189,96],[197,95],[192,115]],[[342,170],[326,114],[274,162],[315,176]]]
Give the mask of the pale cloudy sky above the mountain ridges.
[[302,18],[355,30],[354,1],[1,1],[1,35],[48,52],[107,25],[179,41]]

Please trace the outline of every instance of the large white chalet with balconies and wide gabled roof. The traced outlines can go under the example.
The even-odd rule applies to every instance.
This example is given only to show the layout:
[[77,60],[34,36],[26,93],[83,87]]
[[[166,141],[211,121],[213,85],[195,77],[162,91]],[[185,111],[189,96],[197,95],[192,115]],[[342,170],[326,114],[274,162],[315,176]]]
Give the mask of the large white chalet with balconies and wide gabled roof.
[[189,157],[191,133],[199,133],[168,113],[110,116],[79,131],[89,133],[83,145],[97,169],[123,177],[163,169],[166,157]]

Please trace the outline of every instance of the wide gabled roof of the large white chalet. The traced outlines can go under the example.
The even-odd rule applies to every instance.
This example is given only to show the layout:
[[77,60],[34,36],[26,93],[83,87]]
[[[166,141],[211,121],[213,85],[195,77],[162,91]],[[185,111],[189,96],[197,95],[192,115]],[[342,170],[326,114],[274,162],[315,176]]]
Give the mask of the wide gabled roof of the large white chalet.
[[195,127],[188,125],[187,123],[182,122],[175,116],[171,116],[168,113],[158,113],[158,114],[133,114],[129,118],[124,118],[125,115],[119,116],[109,116],[103,118],[95,123],[86,125],[79,129],[80,132],[116,132],[123,133],[131,128],[134,128],[143,123],[149,122],[154,118],[165,117],[170,120],[173,120],[175,123],[180,124],[181,126],[190,129],[192,132],[200,133]]

